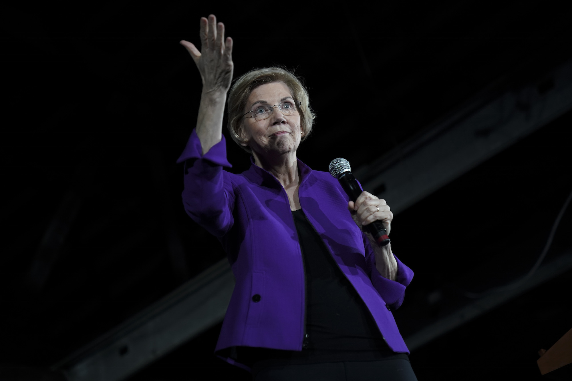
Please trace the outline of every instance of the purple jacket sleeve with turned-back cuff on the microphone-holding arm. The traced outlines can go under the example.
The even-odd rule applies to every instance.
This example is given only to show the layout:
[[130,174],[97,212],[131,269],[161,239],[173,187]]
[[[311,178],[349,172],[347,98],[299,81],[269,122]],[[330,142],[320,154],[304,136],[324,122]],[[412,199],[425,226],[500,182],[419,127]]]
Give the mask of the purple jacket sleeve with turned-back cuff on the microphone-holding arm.
[[397,261],[397,275],[395,280],[384,278],[375,267],[375,254],[374,249],[371,247],[370,240],[367,239],[365,234],[363,234],[363,237],[364,247],[366,248],[366,261],[371,272],[371,283],[386,302],[387,308],[390,309],[390,311],[398,309],[403,303],[405,288],[411,283],[411,279],[413,279],[413,271],[404,265],[394,254],[393,256]]

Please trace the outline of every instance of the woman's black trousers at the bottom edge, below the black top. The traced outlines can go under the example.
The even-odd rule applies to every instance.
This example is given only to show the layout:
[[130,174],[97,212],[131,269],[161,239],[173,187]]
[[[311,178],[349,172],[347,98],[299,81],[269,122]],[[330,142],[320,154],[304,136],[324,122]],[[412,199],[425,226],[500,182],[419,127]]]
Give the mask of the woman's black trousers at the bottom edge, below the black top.
[[404,359],[257,367],[254,381],[417,381]]

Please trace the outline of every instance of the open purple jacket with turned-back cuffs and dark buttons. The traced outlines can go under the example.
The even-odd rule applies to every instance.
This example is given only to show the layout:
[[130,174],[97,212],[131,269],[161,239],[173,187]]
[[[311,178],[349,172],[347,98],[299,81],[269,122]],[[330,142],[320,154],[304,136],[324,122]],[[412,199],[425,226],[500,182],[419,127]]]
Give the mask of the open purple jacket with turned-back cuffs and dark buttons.
[[[236,279],[215,351],[233,346],[301,351],[304,264],[284,188],[254,162],[241,174],[223,170],[231,167],[224,136],[203,155],[193,130],[177,162],[188,159],[197,160],[185,165],[185,211],[220,240]],[[349,199],[339,182],[300,160],[298,168],[305,215],[370,309],[387,344],[395,352],[408,353],[390,309],[402,303],[413,272],[396,258],[396,280],[382,277],[367,237],[348,212]]]

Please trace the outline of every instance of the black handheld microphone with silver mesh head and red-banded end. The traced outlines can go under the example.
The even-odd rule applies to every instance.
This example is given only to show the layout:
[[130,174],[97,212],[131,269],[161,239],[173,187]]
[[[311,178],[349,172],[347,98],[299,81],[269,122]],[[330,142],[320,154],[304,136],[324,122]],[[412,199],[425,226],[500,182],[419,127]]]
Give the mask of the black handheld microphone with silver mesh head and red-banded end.
[[[341,157],[333,159],[332,162],[329,163],[329,174],[340,181],[341,188],[348,194],[349,199],[355,203],[359,195],[362,194],[362,189],[359,187],[358,180],[356,180],[356,178],[353,177],[353,173],[351,173],[349,161]],[[374,236],[378,245],[385,246],[390,243],[390,237],[387,236],[386,228],[383,227],[381,221],[374,221],[363,228],[367,229],[367,231]]]

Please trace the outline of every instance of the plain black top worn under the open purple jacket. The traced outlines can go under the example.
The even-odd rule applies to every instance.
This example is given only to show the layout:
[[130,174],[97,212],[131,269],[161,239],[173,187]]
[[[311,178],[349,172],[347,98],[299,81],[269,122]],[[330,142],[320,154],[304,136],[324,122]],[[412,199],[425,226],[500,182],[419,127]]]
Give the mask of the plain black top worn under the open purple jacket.
[[341,272],[302,209],[293,211],[292,215],[306,277],[303,350],[237,347],[237,361],[252,366],[257,362],[300,364],[380,360],[395,356],[366,304]]

